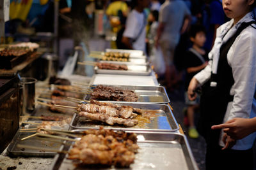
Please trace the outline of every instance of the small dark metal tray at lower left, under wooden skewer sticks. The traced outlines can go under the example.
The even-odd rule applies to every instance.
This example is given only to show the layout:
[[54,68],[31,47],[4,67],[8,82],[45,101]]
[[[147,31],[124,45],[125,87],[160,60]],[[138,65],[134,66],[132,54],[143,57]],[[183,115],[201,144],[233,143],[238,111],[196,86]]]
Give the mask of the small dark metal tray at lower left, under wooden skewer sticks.
[[[40,123],[40,121],[36,121],[36,123]],[[22,125],[22,127],[28,126],[28,128],[35,128],[35,125]],[[20,127],[21,128],[21,127]],[[63,130],[68,130],[69,126]],[[63,140],[61,139],[51,139],[51,141],[45,141],[39,137],[33,137],[26,140],[21,141],[20,139],[25,138],[31,134],[35,134],[35,132],[20,132],[20,129],[16,132],[15,136],[12,139],[12,142],[7,148],[7,152],[14,157],[24,156],[24,157],[54,157],[56,152],[44,152],[42,150],[33,150],[33,149],[22,149],[18,148],[17,145],[28,145],[28,146],[36,146],[40,148],[46,149],[54,149],[60,150],[62,147]]]

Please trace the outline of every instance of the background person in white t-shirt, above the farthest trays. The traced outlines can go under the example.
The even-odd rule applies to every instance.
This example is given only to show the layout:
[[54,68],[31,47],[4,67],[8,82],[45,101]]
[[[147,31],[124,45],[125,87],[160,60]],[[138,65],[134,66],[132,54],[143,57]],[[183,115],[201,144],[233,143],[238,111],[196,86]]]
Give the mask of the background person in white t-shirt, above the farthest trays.
[[145,26],[147,25],[147,18],[144,8],[149,6],[150,1],[134,0],[133,2],[135,7],[127,17],[122,43],[129,49],[143,50],[143,52],[146,52]]

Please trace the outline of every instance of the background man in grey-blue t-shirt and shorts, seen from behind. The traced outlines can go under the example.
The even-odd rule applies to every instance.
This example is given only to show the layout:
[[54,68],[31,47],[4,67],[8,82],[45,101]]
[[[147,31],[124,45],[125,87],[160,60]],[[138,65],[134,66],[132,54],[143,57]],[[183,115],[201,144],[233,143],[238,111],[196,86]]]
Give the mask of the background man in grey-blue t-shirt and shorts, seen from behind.
[[188,28],[190,11],[182,0],[166,0],[159,11],[159,26],[156,36],[156,48],[161,48],[166,63],[165,81],[168,90],[173,90],[177,83],[177,71],[173,64],[175,48],[180,34]]

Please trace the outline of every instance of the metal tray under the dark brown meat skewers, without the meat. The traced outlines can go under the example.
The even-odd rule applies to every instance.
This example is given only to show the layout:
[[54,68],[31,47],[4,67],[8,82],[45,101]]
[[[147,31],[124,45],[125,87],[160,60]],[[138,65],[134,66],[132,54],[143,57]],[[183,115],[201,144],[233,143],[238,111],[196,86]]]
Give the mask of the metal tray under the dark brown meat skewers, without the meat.
[[[170,103],[170,99],[163,86],[133,86],[133,85],[106,85],[109,87],[118,87],[124,90],[133,90],[138,96],[138,102],[140,103]],[[87,94],[84,98],[90,100],[90,94]],[[115,101],[116,103],[120,103]],[[121,103],[134,103],[122,101]]]

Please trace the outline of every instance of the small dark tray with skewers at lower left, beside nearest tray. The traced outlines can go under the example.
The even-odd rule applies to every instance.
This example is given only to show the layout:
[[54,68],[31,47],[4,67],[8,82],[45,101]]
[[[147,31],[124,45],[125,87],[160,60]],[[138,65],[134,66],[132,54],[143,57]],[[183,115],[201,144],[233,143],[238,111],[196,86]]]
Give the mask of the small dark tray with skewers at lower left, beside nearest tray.
[[[29,116],[30,117],[30,116]],[[70,128],[68,117],[31,117],[33,121],[22,122],[7,148],[11,156],[53,157],[60,150],[65,132]],[[30,146],[24,148],[22,145]]]

